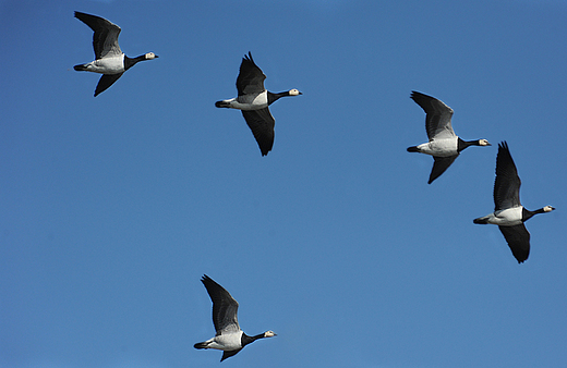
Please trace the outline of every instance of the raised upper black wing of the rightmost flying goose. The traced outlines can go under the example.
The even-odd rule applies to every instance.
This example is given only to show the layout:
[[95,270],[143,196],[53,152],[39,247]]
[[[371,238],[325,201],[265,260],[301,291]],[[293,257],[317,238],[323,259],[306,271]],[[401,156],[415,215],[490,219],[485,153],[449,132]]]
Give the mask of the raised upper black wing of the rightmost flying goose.
[[520,176],[511,159],[508,144],[498,144],[496,180],[494,181],[494,210],[520,206]]

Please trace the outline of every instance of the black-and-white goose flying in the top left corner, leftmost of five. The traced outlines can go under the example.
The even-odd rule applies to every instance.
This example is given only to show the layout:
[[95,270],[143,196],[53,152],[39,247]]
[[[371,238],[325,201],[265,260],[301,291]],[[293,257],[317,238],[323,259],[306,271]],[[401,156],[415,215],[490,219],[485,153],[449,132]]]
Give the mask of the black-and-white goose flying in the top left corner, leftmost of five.
[[79,72],[100,73],[102,76],[98,81],[95,89],[95,97],[105,91],[118,81],[130,68],[144,60],[159,58],[154,52],[141,54],[137,58],[126,57],[120,46],[118,46],[118,35],[120,27],[104,17],[75,12],[75,17],[86,24],[95,32],[93,35],[93,48],[95,49],[95,60],[73,66]]

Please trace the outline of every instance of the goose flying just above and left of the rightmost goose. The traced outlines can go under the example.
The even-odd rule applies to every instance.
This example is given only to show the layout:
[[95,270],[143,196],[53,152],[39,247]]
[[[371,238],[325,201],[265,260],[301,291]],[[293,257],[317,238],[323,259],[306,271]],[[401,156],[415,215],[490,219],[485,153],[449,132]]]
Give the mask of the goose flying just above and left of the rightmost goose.
[[492,146],[486,139],[462,140],[459,138],[450,123],[453,109],[443,101],[414,90],[411,93],[411,99],[425,111],[425,130],[430,142],[408,147],[408,152],[433,156],[435,162],[427,184],[439,177],[467,147]]

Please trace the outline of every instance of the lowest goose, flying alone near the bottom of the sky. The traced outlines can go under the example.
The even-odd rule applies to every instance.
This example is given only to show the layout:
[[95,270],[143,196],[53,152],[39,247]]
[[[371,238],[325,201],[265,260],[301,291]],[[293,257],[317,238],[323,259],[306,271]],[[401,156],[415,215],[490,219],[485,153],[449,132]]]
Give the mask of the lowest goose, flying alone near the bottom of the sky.
[[258,339],[273,338],[273,331],[266,331],[255,336],[245,334],[238,324],[238,302],[208,275],[203,275],[201,282],[205,285],[213,300],[213,324],[217,331],[215,338],[196,343],[195,348],[216,348],[222,351],[222,358],[237,355],[244,346]]

